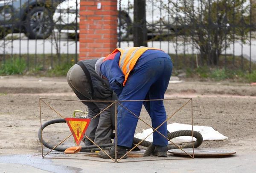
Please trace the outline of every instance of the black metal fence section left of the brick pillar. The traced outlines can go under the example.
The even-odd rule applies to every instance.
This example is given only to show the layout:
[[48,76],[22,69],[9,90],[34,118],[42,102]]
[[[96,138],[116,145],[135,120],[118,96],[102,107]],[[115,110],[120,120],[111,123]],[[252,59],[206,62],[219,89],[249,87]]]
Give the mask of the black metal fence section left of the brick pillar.
[[79,2],[0,0],[2,72],[15,63],[28,70],[47,70],[77,62]]

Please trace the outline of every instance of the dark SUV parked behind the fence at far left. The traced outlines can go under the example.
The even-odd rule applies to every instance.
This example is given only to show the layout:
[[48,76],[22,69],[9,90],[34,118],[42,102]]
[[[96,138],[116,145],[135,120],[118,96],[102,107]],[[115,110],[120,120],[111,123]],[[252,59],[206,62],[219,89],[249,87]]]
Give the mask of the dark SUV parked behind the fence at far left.
[[29,39],[46,39],[52,33],[52,15],[64,0],[0,0],[0,39],[24,32]]

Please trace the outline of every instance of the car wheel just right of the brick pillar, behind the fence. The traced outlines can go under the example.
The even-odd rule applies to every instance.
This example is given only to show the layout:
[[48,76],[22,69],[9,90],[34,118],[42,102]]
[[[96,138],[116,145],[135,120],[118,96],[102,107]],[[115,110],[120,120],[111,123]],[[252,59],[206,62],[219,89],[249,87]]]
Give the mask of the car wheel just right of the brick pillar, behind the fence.
[[[118,41],[128,40],[130,34],[132,34],[131,19],[124,11],[118,14],[117,24],[117,38]],[[119,20],[120,17],[120,20]]]

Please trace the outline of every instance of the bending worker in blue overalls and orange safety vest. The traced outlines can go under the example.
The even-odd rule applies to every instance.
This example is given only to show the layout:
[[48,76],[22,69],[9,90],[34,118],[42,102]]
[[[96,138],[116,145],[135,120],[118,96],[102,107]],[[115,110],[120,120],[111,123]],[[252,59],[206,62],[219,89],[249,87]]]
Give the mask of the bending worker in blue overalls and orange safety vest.
[[[164,94],[172,75],[172,60],[164,51],[148,47],[117,48],[107,57],[96,62],[100,77],[108,79],[111,88],[119,100],[164,99]],[[153,128],[166,120],[163,100],[150,102],[120,102],[122,106],[140,116],[142,105],[151,117]],[[117,114],[117,158],[120,159],[133,144],[138,118],[118,105]],[[167,123],[157,129],[167,137]],[[153,133],[154,155],[166,157],[168,140],[159,133]],[[115,145],[107,150],[115,158]],[[101,158],[108,159],[107,154],[99,152]],[[123,159],[127,158],[127,155]]]

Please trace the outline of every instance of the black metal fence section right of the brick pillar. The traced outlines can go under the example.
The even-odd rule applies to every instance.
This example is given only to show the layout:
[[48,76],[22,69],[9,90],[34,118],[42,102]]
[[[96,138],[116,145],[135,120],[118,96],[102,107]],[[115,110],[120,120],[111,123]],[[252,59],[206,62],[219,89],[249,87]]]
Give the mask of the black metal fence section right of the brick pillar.
[[126,39],[119,47],[163,49],[175,70],[256,69],[256,1],[120,0],[118,6],[119,37]]

